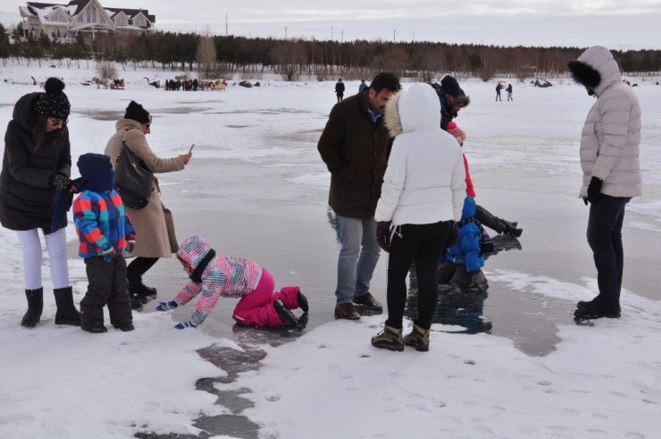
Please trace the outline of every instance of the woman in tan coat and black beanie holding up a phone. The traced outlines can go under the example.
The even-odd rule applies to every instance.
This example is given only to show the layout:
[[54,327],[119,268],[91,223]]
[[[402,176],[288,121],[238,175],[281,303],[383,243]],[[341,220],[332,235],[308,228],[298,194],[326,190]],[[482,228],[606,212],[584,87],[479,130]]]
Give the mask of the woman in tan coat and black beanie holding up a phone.
[[[188,165],[193,156],[191,146],[187,154],[172,158],[156,156],[146,141],[146,135],[151,132],[152,116],[143,106],[131,101],[126,108],[124,118],[116,123],[117,132],[108,140],[105,155],[110,156],[113,164],[117,162],[122,144],[151,166],[154,173],[172,173],[181,171]],[[142,209],[129,209],[127,213],[133,227],[136,229],[136,247],[129,257],[135,257],[127,266],[129,292],[133,298],[134,308],[140,305],[139,297],[153,296],[156,289],[142,282],[142,276],[160,257],[171,257],[178,249],[177,237],[174,233],[172,213],[161,202],[161,189],[158,180],[154,179],[154,190],[149,196],[149,202]]]

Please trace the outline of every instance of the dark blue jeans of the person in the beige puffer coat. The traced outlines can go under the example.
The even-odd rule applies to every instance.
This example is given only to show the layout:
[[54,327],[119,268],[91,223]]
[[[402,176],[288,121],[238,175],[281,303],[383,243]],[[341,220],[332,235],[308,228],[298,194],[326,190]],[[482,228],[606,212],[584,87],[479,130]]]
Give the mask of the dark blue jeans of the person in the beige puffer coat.
[[620,303],[624,265],[622,224],[624,207],[630,199],[602,195],[598,203],[590,204],[588,243],[597,267],[598,301],[605,305]]

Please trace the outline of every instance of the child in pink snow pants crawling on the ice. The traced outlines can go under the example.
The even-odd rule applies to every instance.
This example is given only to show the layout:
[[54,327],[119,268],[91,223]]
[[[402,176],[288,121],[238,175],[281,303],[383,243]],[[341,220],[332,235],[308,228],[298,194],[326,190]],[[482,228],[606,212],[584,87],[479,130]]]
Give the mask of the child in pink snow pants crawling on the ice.
[[241,298],[232,317],[244,326],[297,327],[297,318],[290,310],[301,308],[306,313],[309,309],[298,287],[274,291],[273,277],[265,268],[251,260],[217,255],[202,236],[194,235],[183,241],[177,257],[190,282],[174,300],[160,302],[156,309],[177,308],[202,293],[193,316],[175,325],[177,329],[201,325],[221,296]]

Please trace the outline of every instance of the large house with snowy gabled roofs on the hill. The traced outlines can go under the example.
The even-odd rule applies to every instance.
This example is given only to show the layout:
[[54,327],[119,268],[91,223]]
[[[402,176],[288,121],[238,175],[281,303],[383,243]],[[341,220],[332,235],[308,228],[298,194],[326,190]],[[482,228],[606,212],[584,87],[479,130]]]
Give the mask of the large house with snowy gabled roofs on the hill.
[[73,41],[79,34],[94,39],[99,33],[154,30],[155,15],[146,9],[105,8],[98,0],[72,0],[69,4],[28,2],[19,6],[25,37],[43,30],[55,41]]

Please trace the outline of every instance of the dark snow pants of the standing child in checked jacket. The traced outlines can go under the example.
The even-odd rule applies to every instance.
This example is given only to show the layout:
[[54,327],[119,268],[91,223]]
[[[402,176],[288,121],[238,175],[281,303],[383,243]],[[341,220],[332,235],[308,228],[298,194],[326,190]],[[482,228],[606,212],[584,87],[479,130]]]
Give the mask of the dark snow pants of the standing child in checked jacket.
[[80,300],[80,327],[91,329],[104,325],[104,307],[108,306],[110,323],[121,327],[133,323],[131,315],[129,283],[126,281],[126,259],[113,257],[105,262],[103,257],[86,257],[88,292]]

